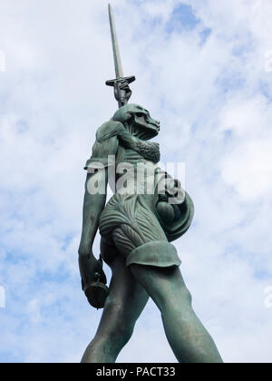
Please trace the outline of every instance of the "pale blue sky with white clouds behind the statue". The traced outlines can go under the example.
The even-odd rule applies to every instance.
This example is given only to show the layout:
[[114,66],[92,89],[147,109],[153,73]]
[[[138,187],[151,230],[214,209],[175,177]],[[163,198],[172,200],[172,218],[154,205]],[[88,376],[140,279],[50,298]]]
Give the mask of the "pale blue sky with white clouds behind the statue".
[[[0,4],[1,362],[79,362],[101,316],[77,249],[83,166],[117,107],[107,3]],[[271,0],[112,5],[131,101],[160,120],[163,162],[186,163],[194,308],[226,362],[272,362]],[[171,361],[150,302],[119,362]]]

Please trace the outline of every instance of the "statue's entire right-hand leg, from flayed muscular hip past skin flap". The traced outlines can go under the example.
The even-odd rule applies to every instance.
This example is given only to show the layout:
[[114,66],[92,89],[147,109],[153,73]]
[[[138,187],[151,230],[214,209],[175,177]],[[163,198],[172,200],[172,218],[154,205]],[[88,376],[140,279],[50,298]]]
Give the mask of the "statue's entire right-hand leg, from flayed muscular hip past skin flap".
[[177,250],[151,211],[149,198],[122,198],[117,194],[108,205],[101,218],[101,233],[112,233],[126,267],[160,308],[175,356],[181,363],[222,362],[214,341],[191,307]]

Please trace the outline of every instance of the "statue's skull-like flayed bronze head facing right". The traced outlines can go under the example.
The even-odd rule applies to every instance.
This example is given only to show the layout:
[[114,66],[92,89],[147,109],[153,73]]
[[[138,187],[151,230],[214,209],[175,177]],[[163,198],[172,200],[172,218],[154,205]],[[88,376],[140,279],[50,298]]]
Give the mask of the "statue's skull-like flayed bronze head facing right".
[[129,103],[122,106],[115,112],[112,120],[127,125],[131,133],[145,141],[160,132],[160,122],[152,119],[150,112],[139,104]]

